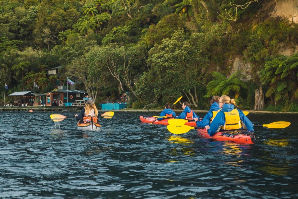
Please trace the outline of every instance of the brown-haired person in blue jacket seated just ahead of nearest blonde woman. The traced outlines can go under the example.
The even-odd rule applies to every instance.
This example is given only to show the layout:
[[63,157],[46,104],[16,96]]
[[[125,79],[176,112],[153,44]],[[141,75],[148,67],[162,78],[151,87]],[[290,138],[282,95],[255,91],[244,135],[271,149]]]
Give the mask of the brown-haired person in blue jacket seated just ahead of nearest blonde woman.
[[205,115],[205,117],[201,121],[198,121],[199,118],[193,118],[194,121],[196,121],[197,127],[205,127],[207,125],[210,125],[212,120],[215,118],[216,114],[221,109],[221,108],[219,108],[218,102],[219,102],[219,96],[213,96],[210,101],[210,104],[211,104],[210,110]]

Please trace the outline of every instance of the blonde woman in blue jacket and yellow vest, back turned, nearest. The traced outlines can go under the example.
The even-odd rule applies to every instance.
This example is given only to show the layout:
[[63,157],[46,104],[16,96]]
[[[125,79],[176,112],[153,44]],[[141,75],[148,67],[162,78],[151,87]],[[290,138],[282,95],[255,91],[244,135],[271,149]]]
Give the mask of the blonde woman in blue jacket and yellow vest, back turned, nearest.
[[254,132],[254,125],[237,109],[237,104],[234,99],[230,99],[227,95],[222,95],[219,98],[219,108],[221,110],[216,114],[210,126],[206,125],[205,128],[210,136],[213,136],[220,130],[237,130],[244,129]]

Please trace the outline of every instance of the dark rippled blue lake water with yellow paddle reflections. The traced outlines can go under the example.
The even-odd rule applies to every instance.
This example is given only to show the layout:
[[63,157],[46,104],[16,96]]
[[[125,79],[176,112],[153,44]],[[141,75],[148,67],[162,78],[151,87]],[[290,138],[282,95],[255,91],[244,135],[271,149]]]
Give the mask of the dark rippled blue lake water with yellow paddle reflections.
[[74,118],[57,129],[50,114],[0,112],[0,198],[298,198],[298,114],[250,113],[291,122],[256,128],[255,145],[174,136],[142,112],[102,118],[99,132]]

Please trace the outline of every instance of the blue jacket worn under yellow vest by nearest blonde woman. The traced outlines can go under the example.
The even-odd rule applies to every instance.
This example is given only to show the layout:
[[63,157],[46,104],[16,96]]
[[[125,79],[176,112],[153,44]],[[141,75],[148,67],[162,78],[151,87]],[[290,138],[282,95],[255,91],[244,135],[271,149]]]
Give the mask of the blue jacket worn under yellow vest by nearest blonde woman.
[[[224,104],[223,108],[216,114],[215,118],[210,124],[210,129],[208,129],[208,134],[210,136],[213,136],[219,128],[224,126],[224,123],[226,122],[226,116],[224,112],[231,112],[234,109],[233,104]],[[254,125],[251,123],[251,121],[242,113],[241,110],[237,109],[239,112],[240,120],[242,123],[245,124],[247,130],[250,132],[254,131]]]

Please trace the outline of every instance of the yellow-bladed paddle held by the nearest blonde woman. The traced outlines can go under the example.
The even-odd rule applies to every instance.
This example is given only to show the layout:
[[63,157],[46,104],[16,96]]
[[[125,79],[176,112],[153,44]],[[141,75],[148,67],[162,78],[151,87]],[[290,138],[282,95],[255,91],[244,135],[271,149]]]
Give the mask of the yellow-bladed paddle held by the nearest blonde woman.
[[[178,119],[171,119],[171,120],[178,120]],[[180,124],[179,124],[179,122],[180,122]],[[171,123],[173,123],[173,121]],[[173,134],[183,134],[183,133],[189,132],[191,129],[204,128],[204,127],[191,127],[191,126],[187,126],[187,125],[184,125],[184,124],[181,124],[181,123],[182,123],[182,121],[178,121],[175,124],[168,125],[167,128],[168,128],[169,132],[171,132]],[[286,128],[290,124],[291,123],[289,123],[289,122],[273,122],[273,123],[270,123],[270,124],[254,125],[254,127]]]

